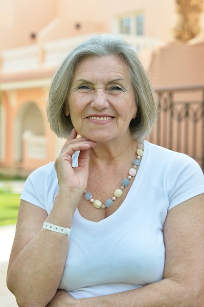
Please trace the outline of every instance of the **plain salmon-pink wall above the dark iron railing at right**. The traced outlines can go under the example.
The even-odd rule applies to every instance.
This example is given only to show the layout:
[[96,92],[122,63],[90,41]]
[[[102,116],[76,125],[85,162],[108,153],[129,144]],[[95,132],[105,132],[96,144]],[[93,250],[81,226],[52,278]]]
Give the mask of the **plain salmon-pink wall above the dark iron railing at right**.
[[204,41],[171,43],[155,50],[149,72],[156,87],[204,84]]

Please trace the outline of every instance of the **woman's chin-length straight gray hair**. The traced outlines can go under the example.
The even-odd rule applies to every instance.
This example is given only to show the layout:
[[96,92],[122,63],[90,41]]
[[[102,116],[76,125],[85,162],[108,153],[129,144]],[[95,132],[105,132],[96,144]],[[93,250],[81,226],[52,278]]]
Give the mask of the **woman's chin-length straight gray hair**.
[[114,54],[125,61],[135,90],[137,113],[136,118],[130,122],[131,135],[134,139],[143,139],[151,132],[158,118],[159,103],[135,49],[119,36],[99,34],[74,48],[52,78],[46,111],[50,128],[58,137],[67,138],[73,129],[70,115],[65,115],[65,105],[76,63],[88,56]]

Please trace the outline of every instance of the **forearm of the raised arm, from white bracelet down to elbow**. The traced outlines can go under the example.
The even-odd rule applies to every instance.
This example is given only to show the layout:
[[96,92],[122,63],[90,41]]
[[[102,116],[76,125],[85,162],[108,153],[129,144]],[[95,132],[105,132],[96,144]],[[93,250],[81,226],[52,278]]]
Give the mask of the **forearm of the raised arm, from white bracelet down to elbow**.
[[[51,236],[51,233],[48,235]],[[56,236],[57,233],[52,235]],[[48,242],[47,235],[41,231],[24,248],[11,266],[7,278],[8,287],[17,302],[22,304],[20,306],[43,307],[44,302],[50,301],[59,286],[67,251],[67,242],[64,242],[64,246],[51,243],[51,238]]]

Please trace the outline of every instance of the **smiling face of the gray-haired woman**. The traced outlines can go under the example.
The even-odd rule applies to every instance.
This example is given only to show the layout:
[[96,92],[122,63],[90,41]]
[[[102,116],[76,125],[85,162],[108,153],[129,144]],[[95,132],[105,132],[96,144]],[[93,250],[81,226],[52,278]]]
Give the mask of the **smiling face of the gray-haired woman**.
[[90,56],[76,64],[65,113],[81,136],[96,142],[126,138],[136,111],[134,88],[120,57]]

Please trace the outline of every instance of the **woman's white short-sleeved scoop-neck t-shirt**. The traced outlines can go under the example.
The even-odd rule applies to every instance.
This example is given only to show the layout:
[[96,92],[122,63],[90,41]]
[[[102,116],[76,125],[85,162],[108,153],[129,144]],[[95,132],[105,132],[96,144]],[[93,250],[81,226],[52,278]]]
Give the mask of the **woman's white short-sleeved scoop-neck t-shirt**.
[[[136,178],[111,216],[92,222],[75,211],[59,286],[75,298],[131,290],[162,280],[167,212],[204,193],[204,175],[195,160],[147,141],[144,145]],[[73,166],[77,160],[78,153],[73,156]],[[51,162],[29,176],[21,198],[49,214],[57,192]]]

